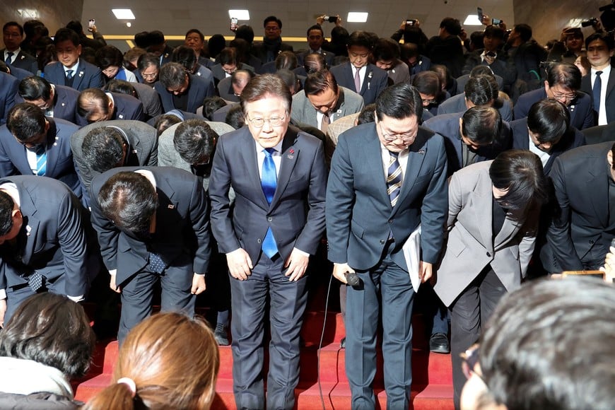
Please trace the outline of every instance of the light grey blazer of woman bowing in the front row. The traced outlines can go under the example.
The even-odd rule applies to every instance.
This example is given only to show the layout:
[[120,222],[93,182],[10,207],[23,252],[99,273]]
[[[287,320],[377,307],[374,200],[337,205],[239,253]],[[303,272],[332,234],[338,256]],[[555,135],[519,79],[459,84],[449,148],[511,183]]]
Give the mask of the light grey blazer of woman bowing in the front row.
[[498,275],[507,291],[521,286],[534,251],[539,206],[509,211],[493,239],[493,191],[489,167],[493,161],[455,172],[448,188],[448,240],[433,290],[447,306],[485,266]]

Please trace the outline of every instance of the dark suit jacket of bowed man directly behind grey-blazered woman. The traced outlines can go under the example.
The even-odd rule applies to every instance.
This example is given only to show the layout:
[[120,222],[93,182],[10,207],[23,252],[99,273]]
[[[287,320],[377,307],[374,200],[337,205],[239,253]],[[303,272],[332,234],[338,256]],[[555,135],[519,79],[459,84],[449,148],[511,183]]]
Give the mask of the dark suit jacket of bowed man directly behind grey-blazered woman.
[[[430,129],[444,137],[444,146],[448,158],[448,175],[460,170],[462,167],[462,147],[464,142],[459,134],[459,119],[463,112],[437,115],[423,122],[423,127]],[[499,139],[488,146],[479,147],[476,152],[476,162],[493,160],[502,151],[506,151],[513,145],[513,132],[508,122],[502,122],[502,134]]]

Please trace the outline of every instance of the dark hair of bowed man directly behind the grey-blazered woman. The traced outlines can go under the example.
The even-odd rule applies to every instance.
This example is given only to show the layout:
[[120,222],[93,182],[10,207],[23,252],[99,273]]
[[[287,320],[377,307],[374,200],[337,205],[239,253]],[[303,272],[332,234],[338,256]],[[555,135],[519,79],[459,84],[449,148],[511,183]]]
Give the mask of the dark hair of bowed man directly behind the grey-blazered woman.
[[502,127],[500,112],[493,107],[472,107],[462,117],[462,134],[477,145],[497,141]]

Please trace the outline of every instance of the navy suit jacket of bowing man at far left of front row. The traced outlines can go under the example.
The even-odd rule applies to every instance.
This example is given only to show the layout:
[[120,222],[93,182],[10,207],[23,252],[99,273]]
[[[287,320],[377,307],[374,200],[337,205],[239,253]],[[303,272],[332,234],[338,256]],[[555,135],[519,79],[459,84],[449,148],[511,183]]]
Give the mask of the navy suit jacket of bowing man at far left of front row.
[[36,270],[47,281],[64,276],[67,295],[85,295],[88,276],[97,273],[88,271],[88,254],[95,253],[97,247],[88,246],[95,238],[88,240],[90,222],[85,209],[57,180],[30,172],[0,179],[0,184],[7,182],[17,186],[23,226],[18,252],[6,243],[0,246],[0,288],[28,283],[20,275]]

